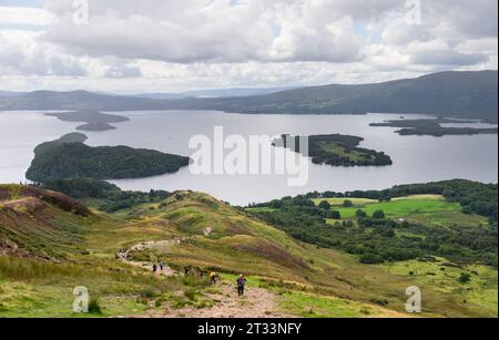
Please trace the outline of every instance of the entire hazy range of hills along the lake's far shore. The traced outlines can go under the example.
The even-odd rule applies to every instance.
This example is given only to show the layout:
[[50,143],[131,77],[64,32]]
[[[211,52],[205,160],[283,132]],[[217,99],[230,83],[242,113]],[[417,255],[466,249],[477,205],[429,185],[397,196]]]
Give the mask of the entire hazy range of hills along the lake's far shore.
[[[210,96],[208,93],[204,92],[205,96]],[[228,97],[165,99],[161,97],[161,94],[119,96],[85,91],[37,91],[16,96],[0,96],[0,110],[221,110],[254,114],[421,113],[497,123],[498,72],[442,72],[375,84],[325,85]]]

